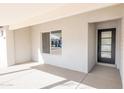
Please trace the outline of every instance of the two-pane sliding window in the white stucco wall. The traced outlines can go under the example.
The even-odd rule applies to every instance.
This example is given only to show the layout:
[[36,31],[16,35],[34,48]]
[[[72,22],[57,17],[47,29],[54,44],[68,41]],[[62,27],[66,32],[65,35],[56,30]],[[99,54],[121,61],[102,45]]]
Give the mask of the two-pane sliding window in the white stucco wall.
[[42,33],[42,52],[61,55],[62,32],[61,30]]

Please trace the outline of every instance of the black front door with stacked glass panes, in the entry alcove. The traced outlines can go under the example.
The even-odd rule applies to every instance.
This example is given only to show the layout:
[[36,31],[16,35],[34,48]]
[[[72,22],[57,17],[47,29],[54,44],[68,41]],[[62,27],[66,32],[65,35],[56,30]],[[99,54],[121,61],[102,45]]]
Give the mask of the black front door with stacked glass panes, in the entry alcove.
[[98,62],[115,64],[116,28],[98,29]]

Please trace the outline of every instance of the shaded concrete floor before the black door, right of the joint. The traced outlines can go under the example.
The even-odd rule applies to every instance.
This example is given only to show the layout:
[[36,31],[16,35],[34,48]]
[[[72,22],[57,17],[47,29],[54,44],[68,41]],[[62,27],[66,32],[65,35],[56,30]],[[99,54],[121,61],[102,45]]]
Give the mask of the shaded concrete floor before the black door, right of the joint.
[[119,71],[116,68],[101,65],[96,65],[81,84],[100,89],[122,88]]

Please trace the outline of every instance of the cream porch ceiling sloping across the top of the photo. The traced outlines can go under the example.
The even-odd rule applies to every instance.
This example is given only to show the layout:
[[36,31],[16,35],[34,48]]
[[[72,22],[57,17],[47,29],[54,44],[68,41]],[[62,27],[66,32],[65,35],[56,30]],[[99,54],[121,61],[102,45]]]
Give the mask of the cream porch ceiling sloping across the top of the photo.
[[11,29],[17,29],[38,24],[37,18],[45,22],[111,5],[115,4],[0,4],[0,26],[9,25]]

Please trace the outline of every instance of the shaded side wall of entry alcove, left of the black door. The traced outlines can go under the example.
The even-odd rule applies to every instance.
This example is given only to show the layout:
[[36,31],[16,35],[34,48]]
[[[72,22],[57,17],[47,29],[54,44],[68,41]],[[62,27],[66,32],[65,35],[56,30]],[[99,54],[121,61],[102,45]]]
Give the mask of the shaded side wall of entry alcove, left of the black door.
[[88,72],[92,70],[92,68],[96,64],[96,24],[89,23],[88,24]]

